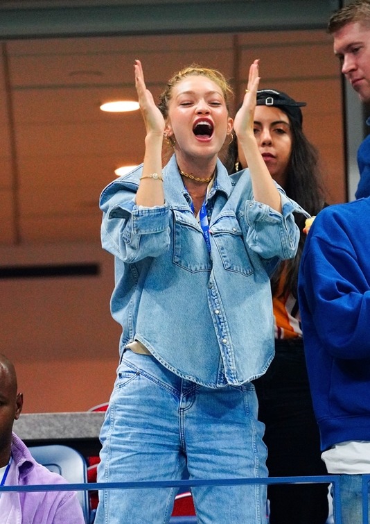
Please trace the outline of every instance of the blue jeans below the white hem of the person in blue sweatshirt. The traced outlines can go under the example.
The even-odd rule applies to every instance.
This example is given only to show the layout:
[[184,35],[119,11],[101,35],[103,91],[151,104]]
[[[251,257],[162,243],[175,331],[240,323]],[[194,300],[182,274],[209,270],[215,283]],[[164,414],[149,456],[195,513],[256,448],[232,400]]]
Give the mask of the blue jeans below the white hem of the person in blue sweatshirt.
[[[362,475],[340,475],[340,502],[342,524],[362,524]],[[335,522],[335,508],[333,514]]]

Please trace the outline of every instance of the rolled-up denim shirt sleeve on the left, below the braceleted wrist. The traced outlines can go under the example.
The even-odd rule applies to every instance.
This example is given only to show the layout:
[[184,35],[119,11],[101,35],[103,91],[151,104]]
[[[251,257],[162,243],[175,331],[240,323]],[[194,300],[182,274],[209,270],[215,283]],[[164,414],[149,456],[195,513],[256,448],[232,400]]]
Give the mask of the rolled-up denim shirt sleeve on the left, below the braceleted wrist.
[[132,263],[146,257],[158,257],[170,246],[169,208],[136,205],[134,194],[123,189],[100,196],[103,210],[102,246],[123,262]]

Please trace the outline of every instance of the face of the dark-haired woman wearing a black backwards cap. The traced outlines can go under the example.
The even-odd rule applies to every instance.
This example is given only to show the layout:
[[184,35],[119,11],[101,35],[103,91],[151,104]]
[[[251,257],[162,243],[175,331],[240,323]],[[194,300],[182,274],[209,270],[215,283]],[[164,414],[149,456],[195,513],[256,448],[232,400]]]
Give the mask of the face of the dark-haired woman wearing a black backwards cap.
[[[292,153],[292,131],[288,115],[272,105],[256,105],[254,136],[270,175],[284,187]],[[240,163],[245,167],[243,151],[238,151],[238,155]]]

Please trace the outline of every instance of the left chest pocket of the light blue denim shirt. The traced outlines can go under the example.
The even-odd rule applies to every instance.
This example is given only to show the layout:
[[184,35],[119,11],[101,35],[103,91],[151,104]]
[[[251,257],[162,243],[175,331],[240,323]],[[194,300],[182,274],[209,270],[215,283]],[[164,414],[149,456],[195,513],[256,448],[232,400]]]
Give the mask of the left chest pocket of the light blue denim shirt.
[[202,229],[191,212],[173,210],[173,263],[191,273],[212,269]]

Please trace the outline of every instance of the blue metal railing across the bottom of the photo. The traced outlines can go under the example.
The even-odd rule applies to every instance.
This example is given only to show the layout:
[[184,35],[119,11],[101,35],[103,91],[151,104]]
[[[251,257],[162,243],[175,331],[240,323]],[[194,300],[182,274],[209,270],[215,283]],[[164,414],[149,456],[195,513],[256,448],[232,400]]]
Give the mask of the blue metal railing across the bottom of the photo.
[[[312,477],[261,477],[261,478],[231,478],[231,479],[193,479],[193,480],[157,480],[141,482],[87,482],[80,484],[42,484],[33,486],[1,486],[1,492],[9,491],[90,491],[101,489],[139,489],[139,488],[189,488],[195,486],[236,486],[240,484],[301,484],[301,483],[331,483],[333,485],[333,508],[335,524],[342,524],[340,502],[341,475],[317,475]],[[362,475],[362,524],[369,524],[369,490],[370,475]],[[360,523],[356,523],[360,524]]]

